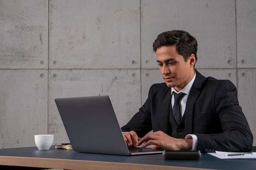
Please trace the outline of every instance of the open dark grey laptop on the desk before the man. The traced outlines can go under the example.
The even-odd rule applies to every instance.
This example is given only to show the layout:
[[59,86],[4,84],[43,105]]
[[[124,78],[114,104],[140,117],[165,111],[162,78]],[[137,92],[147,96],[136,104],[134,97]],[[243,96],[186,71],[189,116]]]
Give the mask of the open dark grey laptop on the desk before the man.
[[162,150],[128,150],[109,96],[55,99],[67,136],[76,152],[112,155],[159,154]]

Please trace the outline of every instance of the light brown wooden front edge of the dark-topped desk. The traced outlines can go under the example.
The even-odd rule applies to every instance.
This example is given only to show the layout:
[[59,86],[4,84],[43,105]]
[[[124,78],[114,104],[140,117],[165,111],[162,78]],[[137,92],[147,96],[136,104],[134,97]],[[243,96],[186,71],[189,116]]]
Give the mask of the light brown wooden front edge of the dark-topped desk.
[[190,168],[177,166],[159,166],[136,163],[118,163],[104,161],[83,161],[71,159],[49,159],[32,157],[8,157],[0,156],[0,165],[34,167],[45,169],[65,169],[65,170],[211,170],[204,168]]

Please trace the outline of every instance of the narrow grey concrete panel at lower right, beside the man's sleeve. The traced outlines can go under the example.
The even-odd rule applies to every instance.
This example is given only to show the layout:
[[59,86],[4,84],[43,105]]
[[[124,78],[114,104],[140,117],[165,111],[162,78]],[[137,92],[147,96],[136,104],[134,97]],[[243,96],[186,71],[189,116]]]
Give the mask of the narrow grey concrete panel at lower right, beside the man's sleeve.
[[238,69],[238,100],[254,135],[256,145],[256,69]]

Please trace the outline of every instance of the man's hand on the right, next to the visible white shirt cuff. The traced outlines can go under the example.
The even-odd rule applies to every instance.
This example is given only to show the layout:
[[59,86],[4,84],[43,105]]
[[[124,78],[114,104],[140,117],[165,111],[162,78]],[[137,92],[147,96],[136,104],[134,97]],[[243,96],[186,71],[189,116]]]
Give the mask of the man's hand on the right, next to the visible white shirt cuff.
[[155,145],[152,149],[163,148],[164,150],[191,150],[192,139],[177,139],[170,137],[162,131],[149,133],[142,137],[137,146],[141,145],[145,148],[149,145]]

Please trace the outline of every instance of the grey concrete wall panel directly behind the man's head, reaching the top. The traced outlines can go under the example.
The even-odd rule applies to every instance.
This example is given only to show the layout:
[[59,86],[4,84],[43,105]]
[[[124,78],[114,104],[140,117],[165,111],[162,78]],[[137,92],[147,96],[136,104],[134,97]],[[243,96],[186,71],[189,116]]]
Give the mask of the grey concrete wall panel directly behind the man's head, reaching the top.
[[197,68],[236,68],[235,0],[141,0],[142,68],[157,68],[152,44],[174,29],[198,40]]

